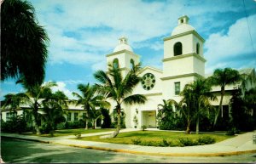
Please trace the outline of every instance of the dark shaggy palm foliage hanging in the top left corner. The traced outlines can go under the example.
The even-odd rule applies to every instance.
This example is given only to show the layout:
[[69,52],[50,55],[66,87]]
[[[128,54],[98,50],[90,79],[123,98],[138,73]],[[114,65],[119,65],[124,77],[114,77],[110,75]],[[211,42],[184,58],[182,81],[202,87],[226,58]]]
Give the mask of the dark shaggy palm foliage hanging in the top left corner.
[[3,1],[1,32],[1,81],[23,76],[30,85],[41,84],[49,38],[38,25],[32,4],[23,0]]

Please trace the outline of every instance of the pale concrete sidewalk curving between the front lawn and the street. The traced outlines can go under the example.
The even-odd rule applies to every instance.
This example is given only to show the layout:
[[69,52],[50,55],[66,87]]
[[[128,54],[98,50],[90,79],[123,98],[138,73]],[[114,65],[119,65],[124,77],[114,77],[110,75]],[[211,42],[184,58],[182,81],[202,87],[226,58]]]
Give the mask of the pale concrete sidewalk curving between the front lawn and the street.
[[[120,133],[136,131],[137,129],[122,129]],[[82,137],[104,135],[112,132],[82,134]],[[75,140],[73,136],[45,138],[26,136],[13,133],[1,133],[3,137],[26,139],[50,144],[61,144],[95,150],[108,150],[152,156],[230,156],[245,153],[256,153],[256,144],[253,144],[253,132],[239,134],[232,139],[226,139],[216,144],[187,146],[187,147],[154,147],[134,144],[110,144],[92,141]]]

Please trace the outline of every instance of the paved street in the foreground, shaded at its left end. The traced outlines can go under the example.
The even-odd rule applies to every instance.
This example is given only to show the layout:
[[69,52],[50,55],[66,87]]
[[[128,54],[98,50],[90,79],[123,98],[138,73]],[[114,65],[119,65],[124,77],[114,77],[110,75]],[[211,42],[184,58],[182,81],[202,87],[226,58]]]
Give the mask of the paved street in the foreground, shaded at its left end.
[[256,154],[240,156],[216,156],[216,157],[172,157],[172,156],[143,156],[125,153],[114,153],[102,150],[89,150],[70,146],[43,144],[38,142],[2,138],[1,156],[5,162],[18,163],[128,163],[128,162],[256,162]]

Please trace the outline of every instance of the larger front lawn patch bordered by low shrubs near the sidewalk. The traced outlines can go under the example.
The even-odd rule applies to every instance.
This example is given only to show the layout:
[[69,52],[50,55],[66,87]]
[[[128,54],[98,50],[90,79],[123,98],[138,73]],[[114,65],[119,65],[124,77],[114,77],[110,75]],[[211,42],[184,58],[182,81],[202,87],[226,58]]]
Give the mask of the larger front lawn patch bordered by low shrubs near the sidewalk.
[[174,132],[156,132],[156,131],[137,131],[129,133],[119,133],[116,138],[113,139],[100,139],[100,136],[85,137],[79,140],[86,141],[97,141],[105,143],[116,143],[116,144],[134,144],[134,140],[141,140],[143,142],[149,143],[160,143],[163,139],[167,142],[172,142],[173,145],[178,145],[178,139],[188,138],[192,140],[199,139],[200,137],[211,137],[215,139],[216,142],[223,141],[225,139],[230,139],[233,136],[227,136],[223,134],[184,134],[184,133],[174,133]]

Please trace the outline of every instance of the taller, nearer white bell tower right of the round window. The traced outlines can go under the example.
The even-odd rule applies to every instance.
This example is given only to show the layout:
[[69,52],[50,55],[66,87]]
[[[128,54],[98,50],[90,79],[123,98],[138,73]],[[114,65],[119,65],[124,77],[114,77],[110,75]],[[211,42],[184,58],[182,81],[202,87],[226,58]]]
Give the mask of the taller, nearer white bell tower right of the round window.
[[205,76],[205,40],[189,25],[189,17],[178,18],[171,37],[164,38],[163,99],[180,100],[184,86]]

